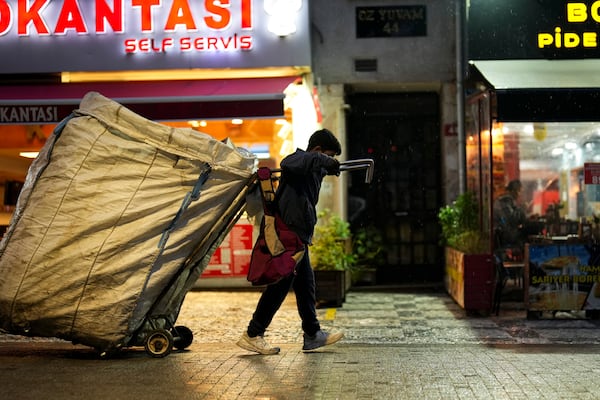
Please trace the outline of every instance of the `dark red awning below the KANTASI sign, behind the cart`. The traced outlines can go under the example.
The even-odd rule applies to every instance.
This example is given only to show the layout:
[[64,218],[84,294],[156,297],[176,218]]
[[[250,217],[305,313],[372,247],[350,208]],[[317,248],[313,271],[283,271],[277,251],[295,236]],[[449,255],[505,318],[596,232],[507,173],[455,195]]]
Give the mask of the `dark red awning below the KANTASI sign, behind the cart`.
[[0,124],[56,123],[91,91],[151,120],[283,116],[285,88],[298,77],[101,82],[0,87]]

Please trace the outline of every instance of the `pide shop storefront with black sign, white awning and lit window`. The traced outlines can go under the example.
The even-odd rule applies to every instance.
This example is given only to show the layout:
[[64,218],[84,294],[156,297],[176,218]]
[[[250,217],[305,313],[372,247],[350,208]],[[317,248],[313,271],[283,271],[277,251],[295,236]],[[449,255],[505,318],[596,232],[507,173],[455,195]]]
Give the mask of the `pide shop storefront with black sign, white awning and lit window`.
[[[529,310],[597,304],[599,10],[598,1],[469,3],[467,188],[480,200],[491,250],[523,265]],[[514,228],[498,199],[508,186],[518,188],[516,181],[522,219],[507,239]],[[567,243],[579,244],[577,254],[565,253],[573,250]],[[565,256],[568,268],[554,266],[564,266]],[[556,291],[563,302],[555,301]]]

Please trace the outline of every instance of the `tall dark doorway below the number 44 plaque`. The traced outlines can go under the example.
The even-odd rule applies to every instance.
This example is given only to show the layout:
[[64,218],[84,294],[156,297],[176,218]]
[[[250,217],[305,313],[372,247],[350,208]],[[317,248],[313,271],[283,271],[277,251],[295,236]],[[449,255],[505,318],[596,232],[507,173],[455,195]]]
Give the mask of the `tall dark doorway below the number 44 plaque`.
[[348,215],[353,229],[374,225],[383,235],[377,284],[441,282],[437,93],[353,93],[346,101],[348,158],[375,160],[370,185],[350,178]]

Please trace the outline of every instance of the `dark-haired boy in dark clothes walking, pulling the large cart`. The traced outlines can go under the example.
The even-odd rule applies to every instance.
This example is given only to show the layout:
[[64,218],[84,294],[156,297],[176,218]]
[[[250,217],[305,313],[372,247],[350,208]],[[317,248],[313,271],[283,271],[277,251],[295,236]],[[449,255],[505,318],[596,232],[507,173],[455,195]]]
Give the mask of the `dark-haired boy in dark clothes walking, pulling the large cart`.
[[333,133],[321,129],[312,134],[306,151],[297,149],[281,161],[281,180],[276,196],[279,212],[287,226],[307,245],[307,250],[296,266],[295,274],[265,288],[246,332],[237,342],[245,350],[259,354],[279,353],[279,347],[271,347],[264,334],[290,287],[294,288],[302,320],[302,350],[315,350],[336,343],[344,336],[343,333],[321,330],[316,312],[315,276],[308,255],[308,245],[317,223],[316,205],[321,183],[326,175],[339,175],[340,163],[333,157],[341,152],[341,145]]

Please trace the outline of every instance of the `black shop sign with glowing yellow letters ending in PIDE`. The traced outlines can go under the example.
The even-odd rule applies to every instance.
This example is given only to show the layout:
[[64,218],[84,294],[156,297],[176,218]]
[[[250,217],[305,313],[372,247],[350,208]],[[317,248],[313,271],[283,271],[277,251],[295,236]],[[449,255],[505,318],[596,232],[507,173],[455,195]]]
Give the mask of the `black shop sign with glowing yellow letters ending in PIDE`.
[[600,0],[471,0],[469,58],[598,58]]

